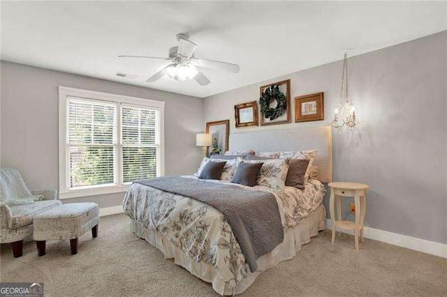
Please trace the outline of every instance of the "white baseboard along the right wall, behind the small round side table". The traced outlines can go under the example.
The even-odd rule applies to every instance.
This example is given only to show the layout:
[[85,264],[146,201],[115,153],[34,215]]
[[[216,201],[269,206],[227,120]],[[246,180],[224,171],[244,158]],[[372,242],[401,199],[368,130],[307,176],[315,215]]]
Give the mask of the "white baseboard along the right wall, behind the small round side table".
[[[332,229],[332,222],[326,219],[326,228]],[[354,231],[340,230],[347,234],[354,234]],[[447,258],[447,245],[443,243],[436,243],[434,241],[426,241],[416,237],[406,236],[393,232],[383,231],[379,229],[365,227],[363,236],[374,239],[374,241],[382,241],[383,243],[390,243],[402,248],[409,248],[410,250],[417,250],[427,254],[434,254],[435,256]]]

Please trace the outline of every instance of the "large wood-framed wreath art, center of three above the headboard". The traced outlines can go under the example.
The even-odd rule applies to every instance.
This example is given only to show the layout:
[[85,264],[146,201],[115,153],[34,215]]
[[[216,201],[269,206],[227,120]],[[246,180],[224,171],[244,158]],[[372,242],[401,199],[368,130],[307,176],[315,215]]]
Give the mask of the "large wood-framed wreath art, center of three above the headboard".
[[291,122],[291,80],[261,86],[261,125]]

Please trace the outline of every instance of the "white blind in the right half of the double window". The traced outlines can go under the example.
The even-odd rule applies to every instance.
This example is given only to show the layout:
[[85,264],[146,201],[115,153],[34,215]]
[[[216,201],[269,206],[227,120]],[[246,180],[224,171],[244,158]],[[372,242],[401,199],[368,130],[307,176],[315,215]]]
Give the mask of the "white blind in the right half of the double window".
[[122,105],[122,180],[159,176],[159,110]]

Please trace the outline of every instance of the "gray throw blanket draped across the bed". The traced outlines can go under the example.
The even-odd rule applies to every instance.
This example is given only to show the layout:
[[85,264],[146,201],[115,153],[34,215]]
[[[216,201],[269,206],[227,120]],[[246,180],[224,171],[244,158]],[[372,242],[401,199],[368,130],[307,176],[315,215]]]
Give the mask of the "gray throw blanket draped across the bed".
[[278,204],[269,192],[181,176],[143,179],[135,183],[190,197],[223,213],[251,272],[256,271],[258,257],[271,252],[284,241]]

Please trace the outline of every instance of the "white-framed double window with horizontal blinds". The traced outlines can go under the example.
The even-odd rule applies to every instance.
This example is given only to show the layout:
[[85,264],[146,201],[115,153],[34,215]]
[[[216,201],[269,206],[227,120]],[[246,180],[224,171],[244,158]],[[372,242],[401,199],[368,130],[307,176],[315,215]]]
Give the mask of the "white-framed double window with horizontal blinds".
[[124,192],[164,174],[164,102],[59,87],[59,196]]

